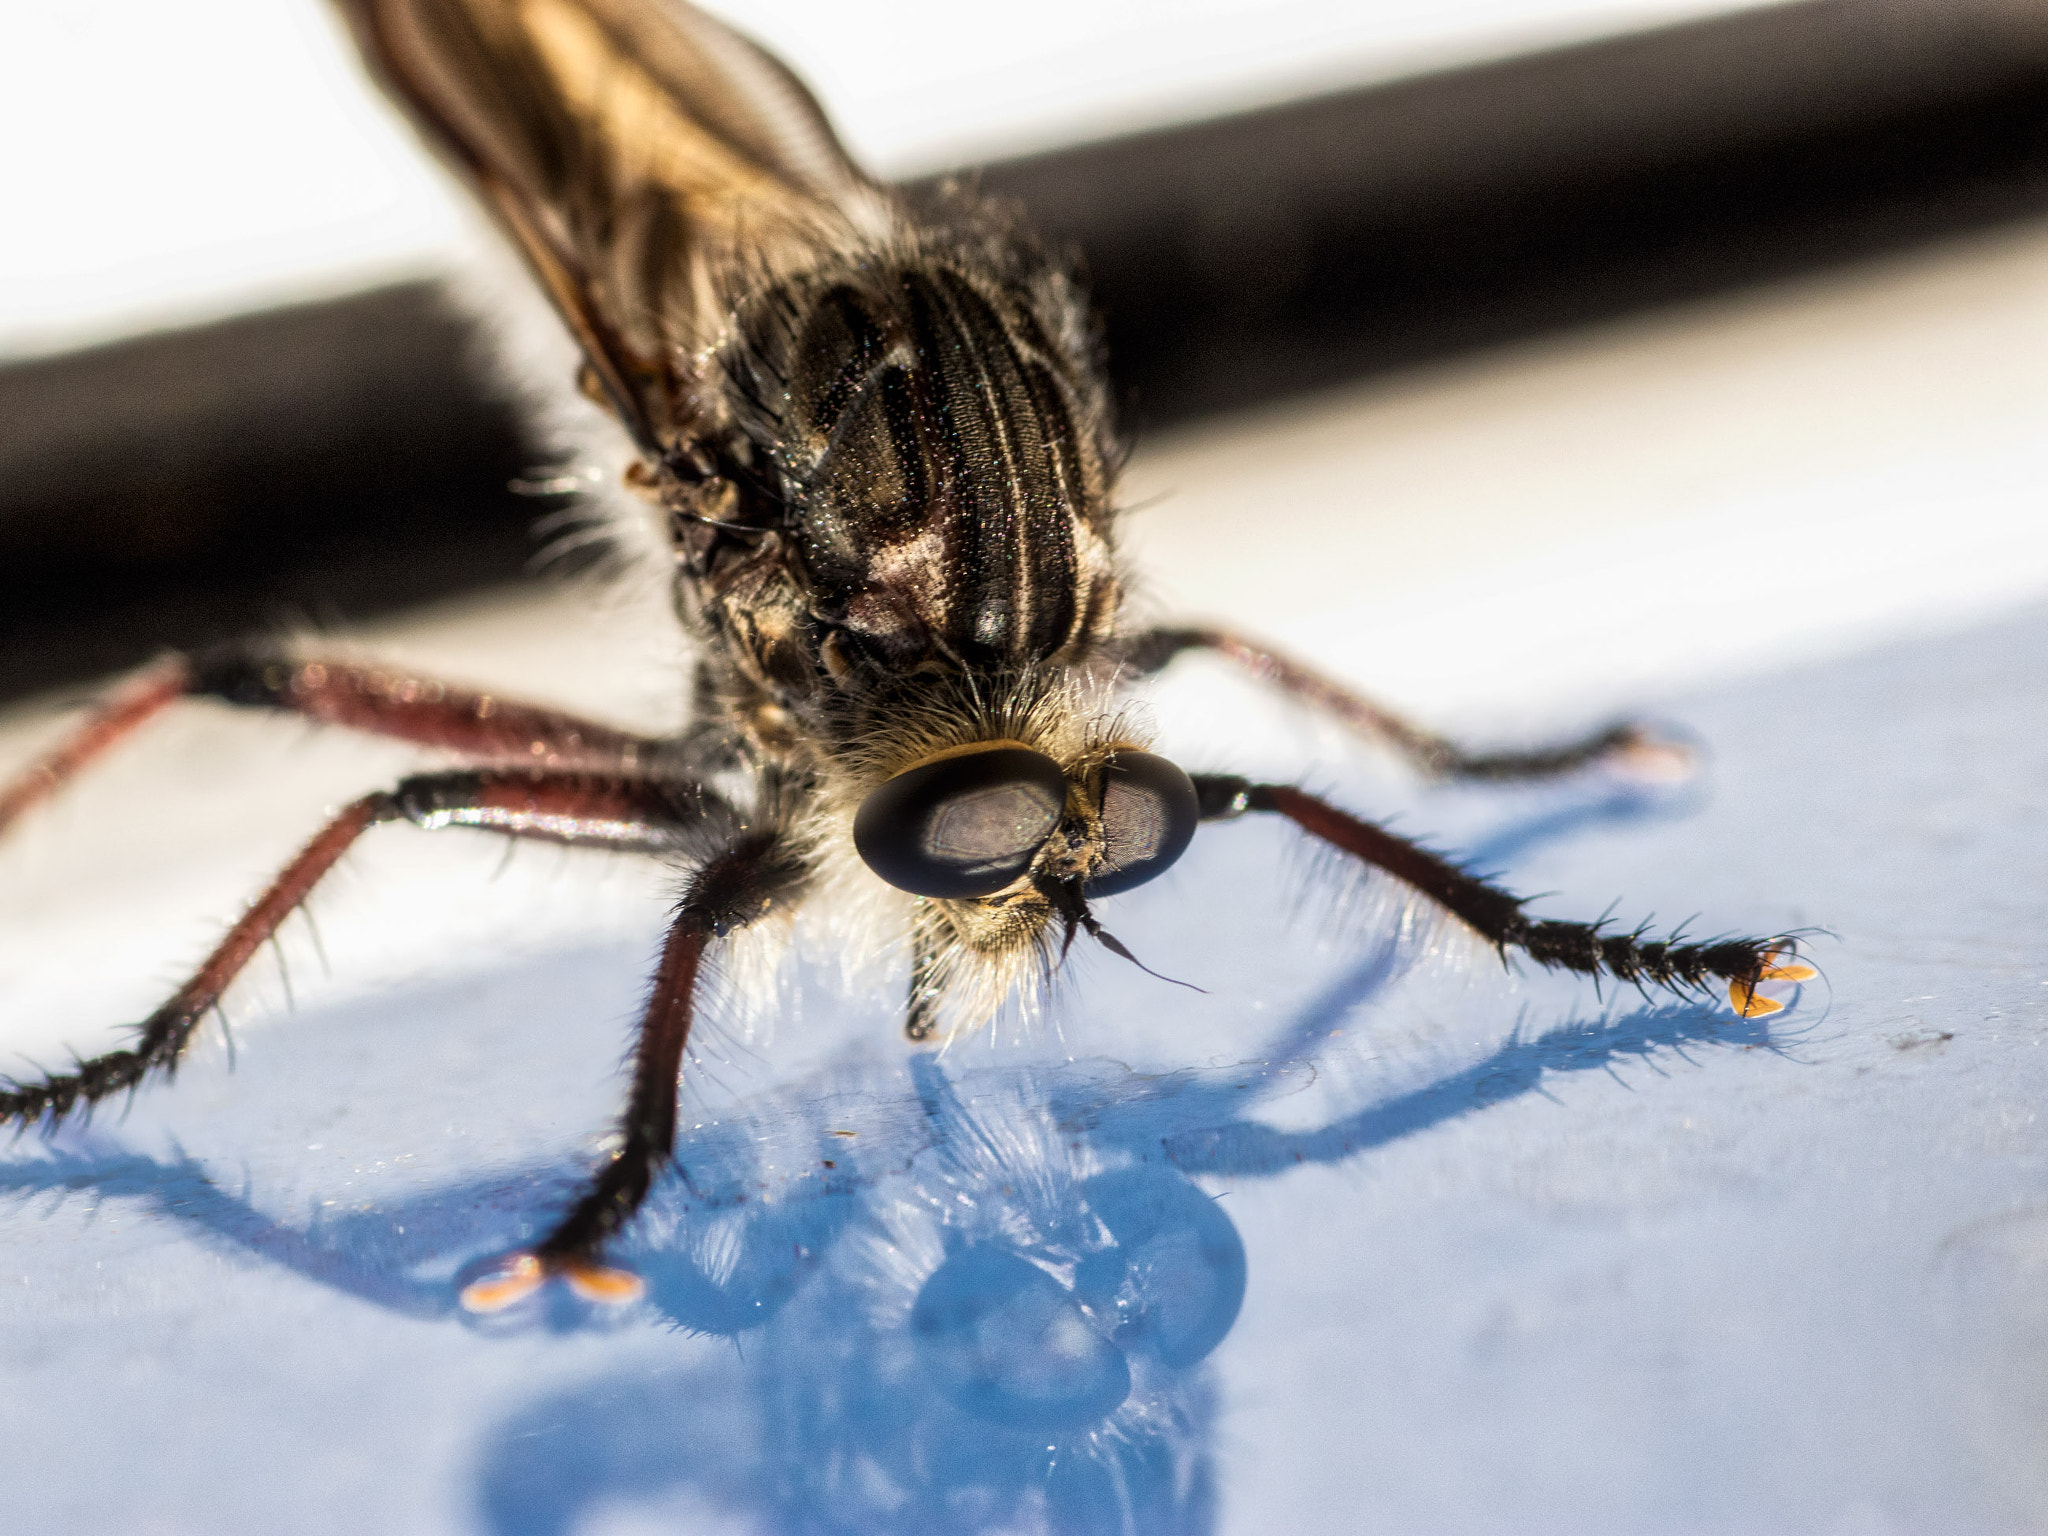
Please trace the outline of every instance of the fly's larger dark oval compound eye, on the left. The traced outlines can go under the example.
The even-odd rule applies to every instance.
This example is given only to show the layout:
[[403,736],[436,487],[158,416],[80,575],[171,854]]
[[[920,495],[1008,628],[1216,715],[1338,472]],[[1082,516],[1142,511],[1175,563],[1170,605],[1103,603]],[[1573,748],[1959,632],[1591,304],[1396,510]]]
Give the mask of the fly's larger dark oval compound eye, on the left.
[[1065,809],[1067,776],[1042,752],[965,752],[868,795],[854,817],[854,848],[899,891],[993,895],[1030,868]]

